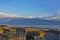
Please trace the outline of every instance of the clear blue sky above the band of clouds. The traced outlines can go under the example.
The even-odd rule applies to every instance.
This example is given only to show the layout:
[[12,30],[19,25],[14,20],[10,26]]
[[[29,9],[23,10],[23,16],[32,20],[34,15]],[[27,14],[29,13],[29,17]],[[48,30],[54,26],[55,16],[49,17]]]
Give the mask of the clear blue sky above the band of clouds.
[[21,16],[48,16],[60,11],[60,0],[0,0],[0,12]]

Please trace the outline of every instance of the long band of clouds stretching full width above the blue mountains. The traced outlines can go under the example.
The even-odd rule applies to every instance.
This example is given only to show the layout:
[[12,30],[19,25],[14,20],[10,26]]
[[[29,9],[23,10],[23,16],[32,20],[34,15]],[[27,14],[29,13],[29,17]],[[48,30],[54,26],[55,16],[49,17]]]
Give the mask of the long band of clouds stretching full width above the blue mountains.
[[53,14],[52,16],[43,17],[43,16],[18,16],[16,14],[10,14],[5,12],[0,12],[0,18],[42,18],[47,20],[60,20],[60,12],[57,12],[56,14]]

